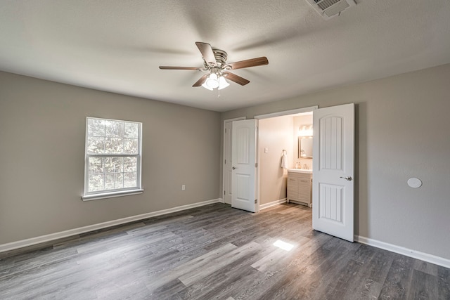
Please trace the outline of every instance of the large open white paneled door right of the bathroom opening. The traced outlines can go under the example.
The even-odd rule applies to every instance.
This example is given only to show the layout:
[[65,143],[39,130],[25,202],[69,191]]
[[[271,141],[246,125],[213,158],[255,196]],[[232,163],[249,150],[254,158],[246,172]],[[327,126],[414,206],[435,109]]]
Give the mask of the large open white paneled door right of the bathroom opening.
[[313,112],[312,227],[354,240],[354,104]]

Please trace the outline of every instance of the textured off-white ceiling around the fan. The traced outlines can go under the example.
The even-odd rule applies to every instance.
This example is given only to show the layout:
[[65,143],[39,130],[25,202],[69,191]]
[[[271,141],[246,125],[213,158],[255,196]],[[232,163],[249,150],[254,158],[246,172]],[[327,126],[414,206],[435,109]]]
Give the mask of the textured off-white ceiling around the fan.
[[[0,70],[226,111],[450,63],[449,0],[356,3],[324,20],[305,0],[0,0]],[[158,69],[201,67],[195,41],[269,65],[218,98]]]

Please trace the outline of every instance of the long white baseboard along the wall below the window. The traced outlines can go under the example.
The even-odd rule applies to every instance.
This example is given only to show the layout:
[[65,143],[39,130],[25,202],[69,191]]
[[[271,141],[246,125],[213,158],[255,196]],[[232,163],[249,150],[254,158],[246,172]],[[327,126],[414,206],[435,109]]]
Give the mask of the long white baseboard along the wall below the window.
[[110,226],[116,226],[124,223],[129,223],[133,221],[139,221],[147,218],[151,218],[152,216],[160,216],[162,214],[169,214],[176,211],[182,211],[184,209],[191,209],[194,207],[202,207],[203,205],[212,204],[220,202],[220,199],[207,200],[203,202],[196,202],[193,204],[181,205],[180,207],[173,207],[171,209],[162,209],[160,211],[152,211],[147,214],[139,214],[136,216],[128,216],[127,218],[117,219],[113,221],[107,221],[103,223],[93,224],[89,226],[74,228],[70,230],[60,231],[59,233],[51,233],[49,235],[41,235],[39,237],[32,237],[26,240],[19,240],[17,242],[9,242],[7,244],[0,244],[0,253],[11,251],[13,249],[18,249],[22,247],[32,246],[34,244],[40,244],[42,242],[49,242],[51,240],[58,240],[63,237],[70,237],[72,235],[78,235],[81,233],[88,233],[92,230],[98,230],[102,228],[107,228]]

